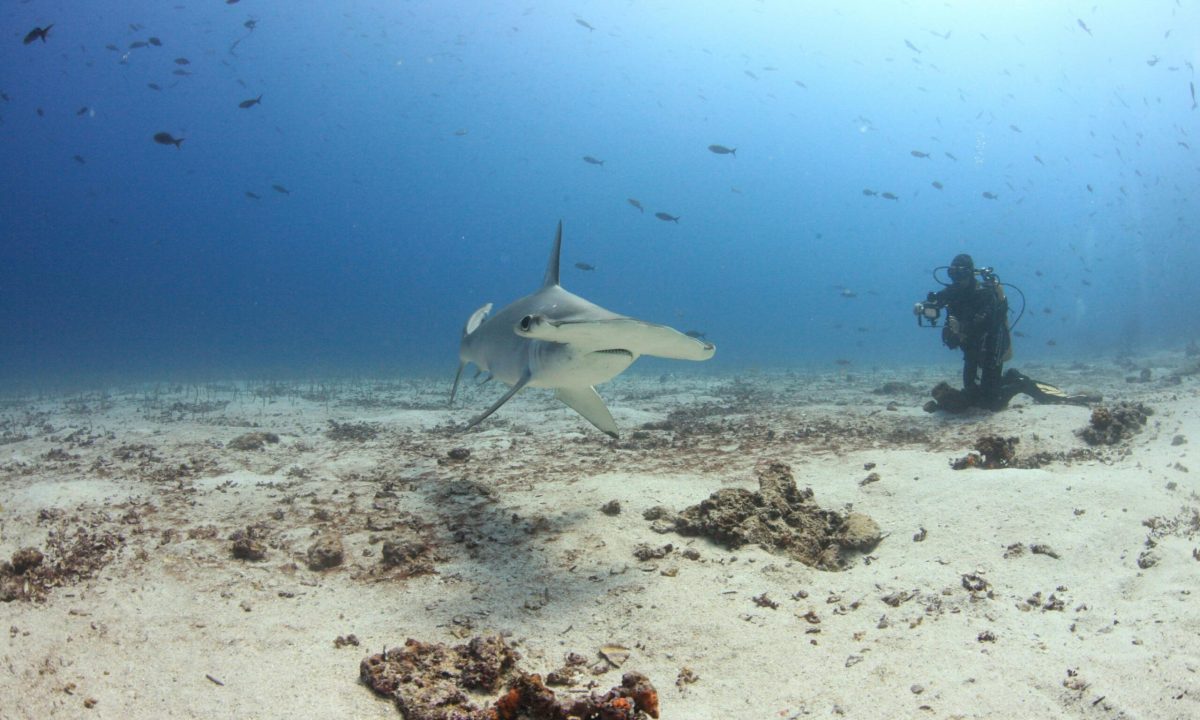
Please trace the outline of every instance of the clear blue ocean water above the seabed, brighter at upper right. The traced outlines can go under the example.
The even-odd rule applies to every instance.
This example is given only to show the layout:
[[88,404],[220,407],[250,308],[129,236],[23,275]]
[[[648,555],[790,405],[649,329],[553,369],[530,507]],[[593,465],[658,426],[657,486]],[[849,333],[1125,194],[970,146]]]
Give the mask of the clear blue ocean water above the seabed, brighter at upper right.
[[0,383],[449,377],[559,220],[564,287],[706,332],[706,370],[949,360],[911,308],[959,252],[1022,292],[1018,366],[1200,336],[1195,1],[32,0],[0,24]]

